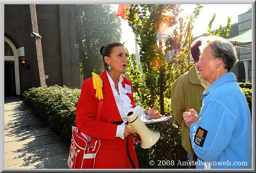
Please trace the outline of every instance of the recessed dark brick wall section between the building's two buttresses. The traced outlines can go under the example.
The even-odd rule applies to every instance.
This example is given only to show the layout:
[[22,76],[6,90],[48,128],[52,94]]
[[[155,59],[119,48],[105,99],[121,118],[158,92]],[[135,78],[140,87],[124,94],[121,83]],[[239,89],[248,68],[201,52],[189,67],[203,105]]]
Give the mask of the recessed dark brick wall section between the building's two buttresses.
[[63,85],[61,67],[61,40],[59,5],[37,4],[38,30],[42,36],[42,50],[44,57],[46,84]]

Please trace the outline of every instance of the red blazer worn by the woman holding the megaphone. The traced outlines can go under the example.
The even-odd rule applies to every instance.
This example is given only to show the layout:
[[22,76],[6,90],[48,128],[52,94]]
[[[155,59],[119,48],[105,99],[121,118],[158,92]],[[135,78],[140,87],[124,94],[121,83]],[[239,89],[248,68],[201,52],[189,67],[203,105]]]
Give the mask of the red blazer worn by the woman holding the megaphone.
[[[116,152],[118,152],[118,150],[123,150],[123,148],[120,148],[120,146],[123,146],[126,138],[121,139],[120,137],[116,137],[117,125],[112,124],[111,122],[119,122],[122,121],[122,119],[118,111],[115,98],[113,96],[111,85],[107,76],[107,71],[105,70],[99,76],[102,78],[103,81],[103,106],[100,121],[96,121],[98,98],[95,97],[96,90],[93,88],[93,80],[91,77],[84,81],[81,88],[79,102],[76,106],[76,126],[79,131],[86,133],[89,136],[99,138],[101,140],[100,150],[103,148],[115,149]],[[124,88],[125,84],[131,86],[131,94],[127,93],[127,95],[131,99],[131,105],[134,108],[135,104],[131,81],[129,81],[125,77],[123,77],[123,79],[124,80],[122,81],[122,85]],[[128,138],[129,150],[131,152],[131,150],[134,150],[134,136],[130,135]],[[132,153],[131,155],[133,160],[135,160],[134,162],[137,162],[135,150],[134,153]],[[124,166],[124,168],[127,167]]]

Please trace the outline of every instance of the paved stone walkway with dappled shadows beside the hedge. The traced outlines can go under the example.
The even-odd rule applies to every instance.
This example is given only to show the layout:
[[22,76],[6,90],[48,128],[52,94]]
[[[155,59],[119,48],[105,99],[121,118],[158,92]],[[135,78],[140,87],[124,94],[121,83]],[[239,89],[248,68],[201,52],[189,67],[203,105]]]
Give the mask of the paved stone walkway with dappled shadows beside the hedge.
[[68,169],[69,147],[18,97],[4,99],[4,170]]

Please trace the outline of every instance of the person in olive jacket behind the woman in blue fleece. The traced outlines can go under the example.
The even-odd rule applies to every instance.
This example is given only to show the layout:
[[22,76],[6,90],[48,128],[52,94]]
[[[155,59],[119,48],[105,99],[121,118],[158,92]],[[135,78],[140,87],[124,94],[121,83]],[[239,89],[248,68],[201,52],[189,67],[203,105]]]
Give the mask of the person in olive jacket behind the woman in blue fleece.
[[190,48],[192,58],[196,62],[192,68],[185,74],[181,75],[172,85],[171,105],[172,112],[177,123],[182,129],[182,146],[188,152],[188,160],[192,162],[195,155],[192,149],[191,140],[189,138],[189,128],[183,121],[182,113],[193,108],[196,112],[200,112],[202,107],[202,94],[209,87],[209,82],[199,77],[198,61],[200,56],[199,46],[201,39],[195,40]]

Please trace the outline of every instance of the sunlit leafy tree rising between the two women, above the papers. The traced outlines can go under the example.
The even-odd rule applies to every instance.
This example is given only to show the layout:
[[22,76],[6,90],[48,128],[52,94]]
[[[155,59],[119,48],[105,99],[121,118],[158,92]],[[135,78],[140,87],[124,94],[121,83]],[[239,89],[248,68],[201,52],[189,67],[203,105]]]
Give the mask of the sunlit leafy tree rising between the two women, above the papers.
[[[160,113],[165,114],[164,98],[170,97],[170,88],[174,79],[191,67],[189,64],[191,32],[193,22],[200,14],[202,6],[197,5],[193,14],[186,20],[178,19],[180,5],[131,4],[130,6],[127,19],[140,46],[140,63],[146,82],[145,85],[139,85],[139,88],[135,86],[134,91],[142,92],[140,100],[148,107],[159,100]],[[173,33],[166,34],[164,29],[173,29]],[[161,47],[162,43],[165,43],[165,49]],[[166,54],[171,50],[178,51],[178,56],[166,62]]]

